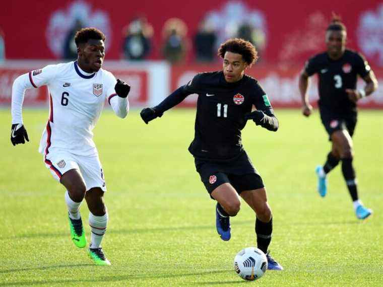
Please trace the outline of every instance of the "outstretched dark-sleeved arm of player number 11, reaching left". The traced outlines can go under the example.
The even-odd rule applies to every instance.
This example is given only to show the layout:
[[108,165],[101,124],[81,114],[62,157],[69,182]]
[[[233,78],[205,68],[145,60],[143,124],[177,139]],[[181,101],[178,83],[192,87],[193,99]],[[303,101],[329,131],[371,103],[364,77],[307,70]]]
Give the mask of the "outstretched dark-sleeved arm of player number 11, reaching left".
[[198,75],[187,85],[179,87],[157,106],[143,109],[140,113],[142,120],[148,124],[151,120],[161,117],[165,111],[181,103],[188,95],[196,93],[197,77]]

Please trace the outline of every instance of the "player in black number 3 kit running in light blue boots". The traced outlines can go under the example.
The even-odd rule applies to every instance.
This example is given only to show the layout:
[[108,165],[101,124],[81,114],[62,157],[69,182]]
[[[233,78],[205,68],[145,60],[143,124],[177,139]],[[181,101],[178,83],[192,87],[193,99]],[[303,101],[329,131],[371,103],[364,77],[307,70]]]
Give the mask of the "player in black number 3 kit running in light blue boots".
[[[312,107],[306,94],[308,77],[318,75],[319,101],[322,123],[325,126],[332,149],[324,166],[316,167],[318,192],[322,197],[327,193],[327,174],[339,162],[351,195],[354,211],[358,219],[368,218],[372,210],[363,206],[358,197],[357,180],[352,165],[352,135],[357,121],[356,103],[369,96],[377,88],[373,71],[365,58],[346,49],[346,27],[339,17],[334,16],[326,31],[327,51],[310,58],[299,77],[299,90],[302,97],[303,115],[309,116]],[[366,83],[364,89],[357,90],[357,76]]]

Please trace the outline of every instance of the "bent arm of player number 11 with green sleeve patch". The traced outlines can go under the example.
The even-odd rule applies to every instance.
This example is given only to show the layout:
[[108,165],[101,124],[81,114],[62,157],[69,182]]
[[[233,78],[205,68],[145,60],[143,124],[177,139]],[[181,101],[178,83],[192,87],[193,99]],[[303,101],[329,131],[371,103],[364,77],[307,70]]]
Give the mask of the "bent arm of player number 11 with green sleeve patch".
[[256,125],[260,125],[268,130],[277,131],[279,122],[274,114],[273,107],[270,104],[269,98],[262,87],[257,83],[254,93],[253,105],[256,111],[245,114],[245,119],[251,119]]

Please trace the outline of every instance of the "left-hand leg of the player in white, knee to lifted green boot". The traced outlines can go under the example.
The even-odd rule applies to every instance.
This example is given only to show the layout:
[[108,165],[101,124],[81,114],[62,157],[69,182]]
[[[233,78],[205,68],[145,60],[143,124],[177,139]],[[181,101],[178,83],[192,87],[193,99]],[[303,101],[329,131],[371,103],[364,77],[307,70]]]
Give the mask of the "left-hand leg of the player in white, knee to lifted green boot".
[[66,187],[65,202],[68,207],[68,221],[73,243],[84,248],[87,244],[85,230],[80,215],[80,206],[85,196],[85,182],[78,169],[71,169],[60,178],[60,183]]

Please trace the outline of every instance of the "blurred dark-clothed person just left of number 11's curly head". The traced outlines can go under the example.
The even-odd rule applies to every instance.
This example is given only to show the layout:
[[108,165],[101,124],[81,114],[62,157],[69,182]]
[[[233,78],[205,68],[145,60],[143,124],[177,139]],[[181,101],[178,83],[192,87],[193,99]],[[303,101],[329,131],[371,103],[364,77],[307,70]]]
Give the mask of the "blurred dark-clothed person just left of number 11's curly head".
[[212,23],[204,20],[200,23],[194,38],[196,57],[201,62],[211,62],[215,59],[217,35]]

